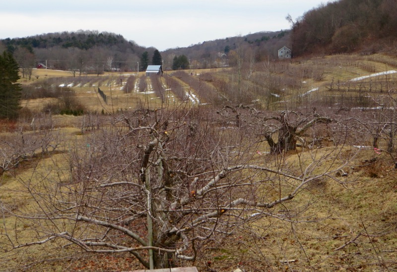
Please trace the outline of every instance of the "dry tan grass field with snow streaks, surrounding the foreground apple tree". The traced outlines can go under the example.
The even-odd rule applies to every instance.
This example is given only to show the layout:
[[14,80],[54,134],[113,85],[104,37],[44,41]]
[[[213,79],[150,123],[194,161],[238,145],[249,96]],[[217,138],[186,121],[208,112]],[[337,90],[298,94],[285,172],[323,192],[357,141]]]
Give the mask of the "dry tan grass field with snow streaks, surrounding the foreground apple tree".
[[[247,102],[247,105],[263,110],[293,107],[302,111],[316,107],[324,112],[349,107],[349,110],[357,108],[360,115],[363,108],[379,106],[379,101],[388,95],[396,98],[396,70],[397,57],[381,54],[332,55],[258,64],[250,76],[242,77],[239,86],[246,95],[241,100],[234,100],[233,105]],[[160,83],[155,83],[143,73],[105,73],[80,78],[65,71],[37,69],[32,81],[21,80],[23,85],[53,80],[57,86],[68,86],[85,112],[96,116],[100,128],[87,130],[84,115],[40,115],[45,105],[55,103],[57,98],[23,100],[21,107],[36,114],[35,119],[29,115],[25,122],[1,124],[3,139],[17,137],[22,130],[28,139],[44,133],[48,129],[46,126],[50,126],[53,135],[58,137],[52,136],[51,141],[60,144],[56,150],[37,150],[32,160],[21,162],[0,176],[0,271],[142,269],[130,254],[85,253],[58,239],[8,251],[17,244],[31,242],[30,236],[45,234],[46,222],[39,220],[40,226],[32,225],[30,220],[16,218],[6,211],[32,211],[34,214],[40,203],[32,199],[29,190],[33,188],[36,193],[47,190],[44,185],[52,180],[67,183],[71,172],[70,151],[85,152],[91,148],[88,135],[106,130],[112,123],[112,116],[116,118],[123,112],[142,108],[177,109],[181,105],[216,110],[212,107],[217,107],[216,103],[220,102],[211,96],[213,92],[230,101],[235,98],[234,93],[239,92],[232,68],[187,73],[190,79],[167,71]],[[134,84],[129,86],[127,82],[131,76]],[[141,81],[144,84],[139,83]],[[269,86],[269,82],[273,85]],[[285,87],[274,87],[281,85]],[[143,91],[139,86],[144,86]],[[228,86],[234,93],[225,93],[222,86]],[[106,94],[107,102],[98,94],[98,87]],[[268,102],[270,98],[277,99]],[[42,125],[43,129],[36,130],[33,124]],[[394,141],[396,147],[396,139]],[[352,160],[344,168],[348,175],[338,177],[338,180],[334,176],[323,176],[312,181],[293,202],[273,208],[276,210],[272,212],[280,218],[293,212],[298,220],[264,217],[250,222],[249,228],[225,236],[224,240],[209,239],[193,265],[199,271],[211,272],[230,272],[238,267],[247,272],[397,271],[397,169],[391,159],[397,156],[396,148],[390,156],[386,152],[359,150],[350,143],[354,140],[340,148],[326,146],[289,152],[283,163],[293,169],[304,167],[314,156],[327,152],[337,153],[339,158],[351,156]],[[363,145],[368,143],[371,145],[371,140]],[[386,140],[380,140],[379,149],[386,150],[386,145]],[[265,154],[267,144],[262,143],[259,148],[261,153],[253,156],[253,161],[268,156]],[[328,166],[323,163],[318,167],[325,169]],[[277,197],[274,195],[274,199]],[[46,203],[41,205],[46,206]],[[15,244],[11,244],[11,240]],[[182,264],[192,265],[189,262]]]

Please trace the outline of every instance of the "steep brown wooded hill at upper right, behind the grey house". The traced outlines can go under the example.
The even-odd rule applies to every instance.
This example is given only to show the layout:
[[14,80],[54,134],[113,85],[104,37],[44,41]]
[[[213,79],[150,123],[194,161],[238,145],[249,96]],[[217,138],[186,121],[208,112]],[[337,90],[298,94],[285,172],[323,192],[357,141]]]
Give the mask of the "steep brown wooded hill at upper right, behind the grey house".
[[[293,21],[295,56],[321,53],[375,53],[393,50],[397,38],[395,0],[340,0],[320,5]],[[391,45],[391,46],[389,46]]]

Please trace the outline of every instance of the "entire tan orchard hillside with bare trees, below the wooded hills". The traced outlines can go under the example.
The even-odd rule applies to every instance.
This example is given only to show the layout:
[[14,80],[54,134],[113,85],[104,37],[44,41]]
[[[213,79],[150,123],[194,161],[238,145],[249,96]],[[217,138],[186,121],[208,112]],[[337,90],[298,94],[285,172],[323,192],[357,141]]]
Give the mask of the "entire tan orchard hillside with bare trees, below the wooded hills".
[[[3,267],[142,269],[148,163],[153,201],[169,199],[154,223],[183,231],[177,245],[186,259],[199,252],[199,271],[397,269],[396,70],[383,54],[243,62],[240,80],[233,68],[35,70],[19,121],[1,125]],[[309,129],[295,150],[269,154],[282,130],[266,133],[283,122]]]

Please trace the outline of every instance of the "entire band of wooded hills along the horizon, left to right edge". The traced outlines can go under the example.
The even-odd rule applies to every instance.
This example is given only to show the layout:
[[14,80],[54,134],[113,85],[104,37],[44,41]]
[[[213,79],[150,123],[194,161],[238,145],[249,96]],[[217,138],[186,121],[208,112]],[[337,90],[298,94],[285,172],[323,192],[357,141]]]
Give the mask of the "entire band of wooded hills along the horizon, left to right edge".
[[[293,56],[357,51],[391,53],[396,51],[392,46],[397,35],[396,15],[395,0],[339,0],[313,8],[297,19],[287,16],[292,31],[203,41],[161,54],[165,69],[171,69],[174,57],[179,55],[186,55],[191,68],[199,69],[233,66],[229,53],[238,48],[254,55],[257,62],[276,59],[277,50],[283,46],[290,47]],[[127,41],[120,34],[89,30],[7,38],[0,41],[0,47],[11,51],[17,60],[22,58],[26,62],[26,55],[31,54],[35,64],[47,60],[49,68],[95,73],[106,70],[110,60],[112,69],[134,71],[144,52],[151,57],[155,51],[153,47]]]

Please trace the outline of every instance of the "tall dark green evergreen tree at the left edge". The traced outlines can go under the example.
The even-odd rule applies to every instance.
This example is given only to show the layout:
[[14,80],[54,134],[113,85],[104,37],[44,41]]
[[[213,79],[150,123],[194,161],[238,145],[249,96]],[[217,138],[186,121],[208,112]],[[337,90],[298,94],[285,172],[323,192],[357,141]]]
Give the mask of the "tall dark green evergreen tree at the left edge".
[[4,51],[0,54],[0,118],[18,117],[21,85],[16,82],[19,78],[18,63],[10,52]]

